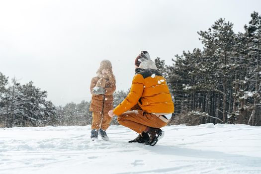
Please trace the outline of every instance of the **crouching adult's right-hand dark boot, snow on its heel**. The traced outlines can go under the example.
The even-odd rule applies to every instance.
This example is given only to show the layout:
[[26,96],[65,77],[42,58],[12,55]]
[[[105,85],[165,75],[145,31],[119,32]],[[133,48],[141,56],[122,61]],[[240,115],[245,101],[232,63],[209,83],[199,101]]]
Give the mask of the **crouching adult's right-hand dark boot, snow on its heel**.
[[150,140],[146,142],[145,145],[155,146],[156,143],[164,136],[164,131],[159,128],[148,127],[146,133],[149,134]]

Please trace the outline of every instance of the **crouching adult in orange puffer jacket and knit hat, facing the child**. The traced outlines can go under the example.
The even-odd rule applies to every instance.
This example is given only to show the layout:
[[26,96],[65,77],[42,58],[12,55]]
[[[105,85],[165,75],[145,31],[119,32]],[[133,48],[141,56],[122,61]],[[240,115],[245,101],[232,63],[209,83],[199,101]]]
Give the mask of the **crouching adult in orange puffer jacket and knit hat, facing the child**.
[[135,59],[135,76],[127,97],[113,110],[110,117],[139,136],[129,143],[154,146],[164,136],[160,128],[168,124],[174,112],[174,103],[165,78],[159,73],[147,51]]

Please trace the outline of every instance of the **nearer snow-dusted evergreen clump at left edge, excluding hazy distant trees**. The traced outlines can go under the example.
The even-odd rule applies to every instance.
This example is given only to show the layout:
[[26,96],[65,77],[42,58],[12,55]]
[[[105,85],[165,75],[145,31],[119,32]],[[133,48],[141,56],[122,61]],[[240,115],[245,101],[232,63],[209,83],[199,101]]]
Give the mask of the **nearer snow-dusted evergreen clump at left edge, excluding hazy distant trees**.
[[32,82],[20,85],[0,73],[0,127],[46,126],[59,122],[56,108],[46,100],[47,92]]

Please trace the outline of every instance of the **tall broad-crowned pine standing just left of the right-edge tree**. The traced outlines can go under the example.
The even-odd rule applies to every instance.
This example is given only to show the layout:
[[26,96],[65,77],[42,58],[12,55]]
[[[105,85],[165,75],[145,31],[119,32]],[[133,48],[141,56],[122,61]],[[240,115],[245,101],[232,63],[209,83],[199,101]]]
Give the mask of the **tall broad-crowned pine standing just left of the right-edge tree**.
[[[204,44],[204,50],[206,56],[212,59],[212,74],[214,78],[219,79],[220,89],[216,88],[220,94],[223,95],[223,122],[226,122],[228,114],[228,100],[231,92],[229,91],[230,84],[233,81],[233,70],[235,66],[234,60],[234,44],[235,34],[232,30],[233,24],[231,22],[225,22],[224,19],[220,18],[215,22],[214,25],[208,31],[200,31],[198,34],[201,36],[200,40]],[[218,76],[215,76],[216,74]]]

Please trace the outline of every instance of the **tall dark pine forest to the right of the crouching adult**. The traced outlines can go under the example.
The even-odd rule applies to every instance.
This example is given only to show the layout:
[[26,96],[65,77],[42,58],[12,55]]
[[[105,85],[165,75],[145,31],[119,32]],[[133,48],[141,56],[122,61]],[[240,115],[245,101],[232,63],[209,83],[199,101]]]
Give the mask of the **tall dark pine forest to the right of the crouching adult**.
[[174,94],[175,123],[261,126],[261,15],[244,29],[220,18],[198,32],[202,50],[176,55],[171,66],[155,60]]

